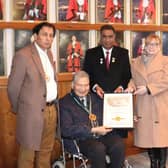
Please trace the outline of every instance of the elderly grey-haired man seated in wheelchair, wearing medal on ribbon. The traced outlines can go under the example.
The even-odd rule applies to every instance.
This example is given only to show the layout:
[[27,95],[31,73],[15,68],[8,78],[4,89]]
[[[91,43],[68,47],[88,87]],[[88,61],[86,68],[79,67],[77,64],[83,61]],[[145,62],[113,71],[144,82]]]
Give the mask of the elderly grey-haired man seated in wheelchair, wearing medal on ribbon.
[[80,151],[90,159],[92,168],[106,168],[106,154],[111,160],[109,168],[121,168],[124,142],[113,134],[112,128],[102,126],[103,100],[89,90],[88,74],[78,71],[72,82],[72,91],[59,101],[65,148],[74,152],[72,140],[75,139]]

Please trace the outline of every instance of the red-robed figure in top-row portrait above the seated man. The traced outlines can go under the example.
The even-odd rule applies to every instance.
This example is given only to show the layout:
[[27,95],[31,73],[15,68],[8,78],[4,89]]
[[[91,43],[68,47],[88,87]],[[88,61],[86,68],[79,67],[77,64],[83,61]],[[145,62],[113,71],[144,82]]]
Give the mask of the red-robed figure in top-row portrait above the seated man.
[[87,0],[69,0],[66,20],[86,21],[88,16]]

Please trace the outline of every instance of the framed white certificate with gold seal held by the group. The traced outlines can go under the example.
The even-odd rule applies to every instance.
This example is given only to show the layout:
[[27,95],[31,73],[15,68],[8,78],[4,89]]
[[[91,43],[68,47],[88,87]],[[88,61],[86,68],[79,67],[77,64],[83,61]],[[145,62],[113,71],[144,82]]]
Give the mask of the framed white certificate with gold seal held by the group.
[[103,125],[112,128],[133,127],[133,96],[131,93],[104,94]]

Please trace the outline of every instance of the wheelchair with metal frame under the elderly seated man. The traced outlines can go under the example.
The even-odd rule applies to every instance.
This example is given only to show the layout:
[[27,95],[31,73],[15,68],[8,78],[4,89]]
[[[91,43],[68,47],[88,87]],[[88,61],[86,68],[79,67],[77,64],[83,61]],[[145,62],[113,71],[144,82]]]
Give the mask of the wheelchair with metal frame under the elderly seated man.
[[[74,148],[67,151],[65,148],[65,140],[61,139],[62,155],[52,164],[52,168],[66,168],[67,160],[69,159],[72,160],[73,168],[91,168],[91,164],[89,163],[88,158],[80,152],[76,140],[71,141]],[[110,163],[110,157],[108,155],[106,155],[106,163]],[[122,168],[133,167],[128,163],[128,160],[125,160],[124,166]]]

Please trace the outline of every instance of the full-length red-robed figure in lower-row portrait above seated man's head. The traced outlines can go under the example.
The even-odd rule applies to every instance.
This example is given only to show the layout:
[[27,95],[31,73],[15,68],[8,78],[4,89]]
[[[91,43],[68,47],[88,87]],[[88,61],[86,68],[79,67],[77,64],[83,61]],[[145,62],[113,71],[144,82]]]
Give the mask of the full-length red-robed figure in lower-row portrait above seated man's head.
[[71,37],[71,42],[67,47],[67,71],[77,72],[81,69],[81,57],[83,50],[75,35]]

